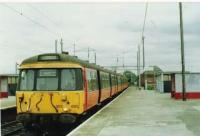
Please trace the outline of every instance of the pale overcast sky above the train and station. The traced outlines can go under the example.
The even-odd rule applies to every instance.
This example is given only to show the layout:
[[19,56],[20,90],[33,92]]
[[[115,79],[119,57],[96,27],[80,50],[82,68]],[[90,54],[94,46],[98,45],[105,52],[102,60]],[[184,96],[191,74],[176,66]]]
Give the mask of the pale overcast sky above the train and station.
[[[0,74],[41,53],[64,51],[101,66],[136,66],[146,3],[0,3]],[[200,3],[183,3],[185,64],[200,72]],[[178,3],[148,3],[145,25],[147,69],[181,70]],[[58,44],[60,52],[60,44]],[[142,49],[142,48],[141,48]],[[118,58],[118,62],[117,62]],[[94,62],[94,51],[89,60]],[[142,53],[141,53],[142,64]],[[129,69],[129,68],[127,68]],[[126,68],[125,68],[126,70]],[[135,71],[135,70],[133,70]]]

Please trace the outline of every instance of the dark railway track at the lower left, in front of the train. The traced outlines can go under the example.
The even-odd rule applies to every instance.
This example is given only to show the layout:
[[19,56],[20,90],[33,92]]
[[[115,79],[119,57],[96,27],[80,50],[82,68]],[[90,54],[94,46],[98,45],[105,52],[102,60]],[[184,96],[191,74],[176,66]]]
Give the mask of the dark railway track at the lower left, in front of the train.
[[1,125],[2,136],[13,136],[13,135],[21,136],[20,132],[22,132],[23,130],[24,130],[23,125],[16,120],[8,123],[3,123]]

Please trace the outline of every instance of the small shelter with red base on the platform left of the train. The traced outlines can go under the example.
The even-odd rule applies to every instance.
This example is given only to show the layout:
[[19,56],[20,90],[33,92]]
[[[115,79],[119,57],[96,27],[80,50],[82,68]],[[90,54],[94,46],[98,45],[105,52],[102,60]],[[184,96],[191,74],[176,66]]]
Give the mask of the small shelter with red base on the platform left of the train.
[[17,88],[17,74],[0,74],[0,98],[14,96]]

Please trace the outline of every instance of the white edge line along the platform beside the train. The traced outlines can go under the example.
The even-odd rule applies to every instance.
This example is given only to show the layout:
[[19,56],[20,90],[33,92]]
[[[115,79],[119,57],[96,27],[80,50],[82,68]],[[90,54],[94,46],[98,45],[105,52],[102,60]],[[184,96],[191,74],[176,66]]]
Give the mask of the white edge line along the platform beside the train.
[[[127,88],[128,89],[128,88]],[[72,130],[69,134],[67,134],[66,136],[72,136],[79,128],[81,128],[83,125],[85,125],[88,121],[90,121],[92,118],[94,118],[98,113],[100,113],[102,110],[104,110],[105,108],[107,108],[108,106],[110,106],[115,100],[117,100],[124,92],[126,92],[125,89],[119,96],[117,96],[114,100],[112,100],[110,103],[108,103],[106,106],[104,106],[101,110],[99,110],[97,113],[95,113],[94,115],[92,115],[89,119],[87,119],[86,121],[84,121],[82,124],[80,124],[78,127],[76,127],[74,130]]]

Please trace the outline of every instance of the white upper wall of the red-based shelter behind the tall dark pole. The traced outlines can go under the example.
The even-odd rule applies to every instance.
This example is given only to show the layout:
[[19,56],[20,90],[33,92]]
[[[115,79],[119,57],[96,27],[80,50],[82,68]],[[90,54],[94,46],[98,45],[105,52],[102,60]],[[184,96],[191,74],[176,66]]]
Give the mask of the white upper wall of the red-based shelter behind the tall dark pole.
[[[200,74],[185,74],[186,92],[200,92]],[[175,74],[176,92],[182,92],[182,75]]]

